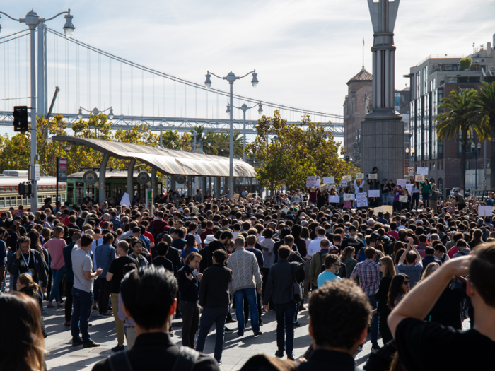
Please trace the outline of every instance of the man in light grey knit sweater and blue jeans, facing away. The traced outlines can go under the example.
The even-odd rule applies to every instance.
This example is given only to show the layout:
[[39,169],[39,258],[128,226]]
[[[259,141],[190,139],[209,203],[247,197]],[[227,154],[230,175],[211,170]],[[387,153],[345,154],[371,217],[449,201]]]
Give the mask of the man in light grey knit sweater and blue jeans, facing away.
[[235,251],[228,259],[228,268],[232,269],[233,280],[229,291],[235,299],[235,315],[237,317],[238,335],[244,335],[244,295],[248,300],[251,312],[251,328],[255,336],[261,335],[256,305],[256,290],[261,293],[262,278],[255,254],[246,251],[243,236],[235,238]]

